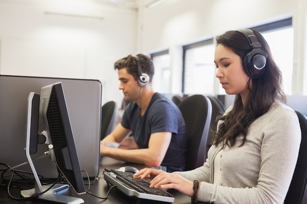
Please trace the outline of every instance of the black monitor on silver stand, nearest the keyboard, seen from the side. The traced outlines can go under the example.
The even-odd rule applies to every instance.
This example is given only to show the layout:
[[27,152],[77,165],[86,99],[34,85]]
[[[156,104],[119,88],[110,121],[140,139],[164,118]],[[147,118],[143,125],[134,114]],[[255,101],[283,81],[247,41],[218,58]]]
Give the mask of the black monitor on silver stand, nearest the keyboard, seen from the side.
[[[38,98],[40,98],[39,102]],[[38,104],[39,111],[37,111]],[[49,152],[46,154],[54,162],[54,168],[58,169],[59,174],[64,176],[77,194],[85,193],[75,139],[61,82],[43,87],[40,97],[37,93],[29,93],[26,121],[26,157],[31,166],[36,186],[34,189],[21,191],[21,195],[23,197],[33,197],[35,195],[39,199],[64,204],[84,203],[82,199],[64,196],[59,193],[60,190],[67,188],[68,185],[57,184],[51,190],[45,192],[48,186],[45,188],[42,186],[30,156],[36,153],[37,145],[40,141],[38,139],[38,126],[42,122],[41,125],[44,127],[42,135],[46,136],[45,143],[49,147]]]

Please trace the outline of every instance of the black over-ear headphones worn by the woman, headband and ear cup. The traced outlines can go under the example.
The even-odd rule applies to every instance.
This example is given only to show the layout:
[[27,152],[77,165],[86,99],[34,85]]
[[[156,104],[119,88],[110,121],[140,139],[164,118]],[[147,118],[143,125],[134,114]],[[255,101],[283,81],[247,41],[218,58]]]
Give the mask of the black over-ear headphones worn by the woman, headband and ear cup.
[[251,47],[251,50],[243,58],[243,67],[250,77],[259,78],[265,70],[268,54],[260,48],[261,45],[253,30],[244,29],[238,31],[244,34]]

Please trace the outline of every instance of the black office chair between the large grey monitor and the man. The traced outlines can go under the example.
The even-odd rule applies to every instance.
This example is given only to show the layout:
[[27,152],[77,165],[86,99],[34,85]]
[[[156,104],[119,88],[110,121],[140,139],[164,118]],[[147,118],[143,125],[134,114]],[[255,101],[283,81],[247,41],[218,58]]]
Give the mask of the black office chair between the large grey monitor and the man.
[[106,102],[102,106],[101,139],[113,131],[117,111],[117,104],[114,101]]

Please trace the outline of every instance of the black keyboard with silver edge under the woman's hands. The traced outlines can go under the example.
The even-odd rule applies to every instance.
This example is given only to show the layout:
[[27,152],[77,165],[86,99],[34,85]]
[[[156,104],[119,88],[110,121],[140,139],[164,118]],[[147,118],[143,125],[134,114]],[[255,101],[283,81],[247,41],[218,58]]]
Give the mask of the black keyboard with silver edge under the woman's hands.
[[105,181],[116,185],[120,191],[128,196],[167,203],[174,202],[174,196],[171,193],[161,188],[150,188],[148,181],[133,179],[131,172],[104,169],[103,177]]

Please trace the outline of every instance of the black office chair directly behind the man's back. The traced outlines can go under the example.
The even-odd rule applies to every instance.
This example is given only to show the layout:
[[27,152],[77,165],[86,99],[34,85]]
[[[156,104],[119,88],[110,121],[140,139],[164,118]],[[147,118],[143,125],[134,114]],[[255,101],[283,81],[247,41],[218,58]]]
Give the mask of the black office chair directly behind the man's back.
[[202,166],[206,159],[207,136],[210,129],[212,106],[204,95],[189,96],[178,105],[189,137],[186,170]]

